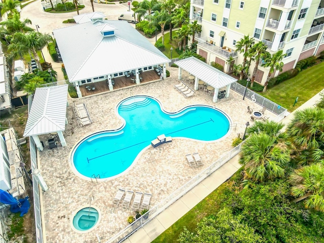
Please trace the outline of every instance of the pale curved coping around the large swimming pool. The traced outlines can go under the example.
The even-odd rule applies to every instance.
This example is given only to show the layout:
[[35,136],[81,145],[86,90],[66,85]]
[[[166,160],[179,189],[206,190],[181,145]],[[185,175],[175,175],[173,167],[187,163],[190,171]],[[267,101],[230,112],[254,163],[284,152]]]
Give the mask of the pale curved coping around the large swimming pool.
[[[208,108],[212,108],[212,109],[215,109],[217,110],[218,112],[222,113],[227,119],[228,119],[228,123],[229,123],[229,129],[227,130],[227,133],[222,136],[221,138],[219,139],[216,139],[216,140],[210,140],[210,141],[204,141],[204,140],[198,140],[198,139],[193,139],[193,138],[186,138],[186,137],[172,137],[172,139],[187,139],[187,140],[191,140],[191,141],[198,141],[198,142],[202,142],[202,143],[214,143],[214,142],[218,142],[218,141],[221,141],[223,139],[225,139],[226,137],[228,137],[229,135],[229,131],[231,130],[231,124],[232,124],[232,119],[230,118],[230,116],[228,114],[226,114],[224,111],[222,111],[221,109],[217,108],[217,107],[214,107],[214,106],[211,106],[211,105],[206,105],[206,104],[195,104],[195,105],[188,105],[188,106],[185,106],[183,107],[182,109],[176,111],[176,112],[168,112],[164,109],[163,105],[159,102],[158,99],[152,97],[152,96],[148,96],[148,95],[135,95],[135,96],[131,96],[131,97],[128,97],[126,99],[123,99],[121,101],[119,101],[116,105],[116,108],[115,108],[115,112],[116,112],[116,115],[119,119],[123,120],[123,125],[118,128],[118,129],[115,129],[115,130],[102,130],[102,131],[98,131],[98,132],[95,132],[95,133],[92,133],[90,135],[87,135],[81,139],[79,139],[74,145],[73,147],[71,148],[70,152],[69,152],[69,157],[68,157],[68,161],[69,161],[69,167],[71,169],[71,171],[76,175],[78,176],[79,178],[81,179],[84,179],[86,181],[92,181],[92,180],[95,180],[94,178],[91,178],[91,177],[87,177],[81,173],[79,173],[77,171],[77,169],[75,168],[74,166],[74,163],[72,161],[72,155],[74,154],[75,152],[75,148],[80,144],[82,143],[84,140],[86,140],[87,138],[91,137],[91,136],[94,136],[96,134],[100,134],[100,133],[105,133],[105,132],[108,132],[108,133],[113,133],[113,132],[120,132],[121,130],[123,130],[123,128],[126,126],[126,121],[125,119],[119,115],[118,113],[118,107],[120,106],[121,103],[123,103],[124,101],[126,100],[129,100],[129,99],[132,99],[132,98],[135,98],[135,97],[145,97],[145,98],[150,98],[150,99],[153,99],[155,100],[159,106],[160,106],[160,109],[161,111],[163,111],[164,113],[168,114],[168,115],[176,115],[176,114],[179,114],[181,113],[182,111],[184,111],[185,109],[187,108],[190,108],[190,107],[208,107]],[[117,178],[117,177],[120,177],[120,176],[123,176],[125,173],[127,173],[128,171],[130,171],[137,163],[139,157],[142,155],[142,153],[147,150],[148,148],[150,148],[151,145],[147,145],[146,147],[144,147],[138,154],[137,156],[135,157],[133,163],[130,165],[130,167],[128,167],[125,171],[117,174],[117,175],[114,175],[114,176],[111,176],[111,177],[106,177],[106,178],[97,178],[96,180],[99,181],[99,182],[103,182],[103,181],[107,181],[107,180],[111,180],[111,179],[114,179],[114,178]]]

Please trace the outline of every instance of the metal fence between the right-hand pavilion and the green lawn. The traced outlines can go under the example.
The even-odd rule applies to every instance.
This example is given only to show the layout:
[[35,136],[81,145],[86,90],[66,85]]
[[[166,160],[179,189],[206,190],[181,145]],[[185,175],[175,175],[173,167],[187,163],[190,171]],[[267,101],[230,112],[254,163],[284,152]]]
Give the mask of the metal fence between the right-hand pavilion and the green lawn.
[[[236,91],[237,93],[244,95],[244,91],[246,87],[238,84],[233,83],[231,85],[231,89]],[[247,89],[247,93],[245,95],[246,98],[249,100],[252,100],[253,102],[261,105],[262,107],[267,108],[267,110],[271,111],[272,113],[276,115],[283,115],[285,117],[287,109],[284,107],[281,107],[280,105],[272,102],[271,100],[268,100],[267,98],[264,98],[263,96],[253,92],[252,90]],[[282,118],[284,118],[282,117]]]

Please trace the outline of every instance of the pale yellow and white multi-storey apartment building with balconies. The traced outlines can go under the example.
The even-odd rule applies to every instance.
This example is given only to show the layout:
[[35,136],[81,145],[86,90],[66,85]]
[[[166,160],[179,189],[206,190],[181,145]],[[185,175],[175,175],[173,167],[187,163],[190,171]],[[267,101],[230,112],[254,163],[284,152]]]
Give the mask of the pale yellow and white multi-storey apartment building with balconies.
[[[197,53],[207,63],[221,64],[225,72],[230,70],[226,62],[230,56],[235,64],[242,63],[243,54],[235,52],[235,44],[244,35],[264,42],[271,54],[278,50],[287,54],[282,72],[324,51],[324,0],[191,0],[190,21],[194,20],[202,29]],[[256,82],[263,85],[268,73],[260,62]]]

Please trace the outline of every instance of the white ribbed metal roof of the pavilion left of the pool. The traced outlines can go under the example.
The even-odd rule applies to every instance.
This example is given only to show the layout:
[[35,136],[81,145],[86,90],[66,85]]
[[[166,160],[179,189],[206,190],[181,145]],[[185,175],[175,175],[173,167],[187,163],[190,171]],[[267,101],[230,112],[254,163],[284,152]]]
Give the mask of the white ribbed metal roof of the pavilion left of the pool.
[[37,88],[28,114],[24,136],[65,130],[68,85]]

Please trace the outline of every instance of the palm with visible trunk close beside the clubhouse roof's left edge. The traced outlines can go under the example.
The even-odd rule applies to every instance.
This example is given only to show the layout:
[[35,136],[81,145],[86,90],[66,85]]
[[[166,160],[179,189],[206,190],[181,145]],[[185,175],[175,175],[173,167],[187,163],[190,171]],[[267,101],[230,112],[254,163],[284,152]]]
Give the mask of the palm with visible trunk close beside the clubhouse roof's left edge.
[[43,70],[40,58],[37,54],[38,50],[43,49],[47,44],[53,41],[50,34],[43,34],[40,32],[31,31],[28,33],[16,32],[13,35],[11,44],[8,46],[8,52],[11,53],[11,57],[21,57],[29,52],[32,53],[38,69]]

